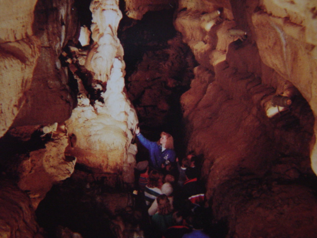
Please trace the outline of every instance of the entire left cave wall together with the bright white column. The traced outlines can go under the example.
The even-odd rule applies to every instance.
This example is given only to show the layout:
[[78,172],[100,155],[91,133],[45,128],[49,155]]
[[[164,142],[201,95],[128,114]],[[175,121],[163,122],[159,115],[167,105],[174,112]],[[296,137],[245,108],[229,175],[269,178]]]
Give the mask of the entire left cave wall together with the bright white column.
[[76,163],[108,176],[109,186],[131,186],[138,120],[124,92],[118,1],[92,1],[87,47],[78,43],[74,0],[25,3],[3,2],[0,10],[1,179],[15,181],[34,210]]

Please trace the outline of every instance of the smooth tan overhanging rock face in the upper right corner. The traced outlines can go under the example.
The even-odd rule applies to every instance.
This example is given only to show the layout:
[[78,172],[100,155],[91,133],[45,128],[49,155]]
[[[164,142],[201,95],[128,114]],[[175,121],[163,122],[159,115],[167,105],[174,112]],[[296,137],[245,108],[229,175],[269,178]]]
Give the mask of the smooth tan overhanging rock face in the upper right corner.
[[[252,15],[259,53],[264,63],[292,82],[309,102],[316,117],[316,2],[264,0]],[[315,122],[315,133],[317,132]],[[317,144],[311,151],[317,171]]]

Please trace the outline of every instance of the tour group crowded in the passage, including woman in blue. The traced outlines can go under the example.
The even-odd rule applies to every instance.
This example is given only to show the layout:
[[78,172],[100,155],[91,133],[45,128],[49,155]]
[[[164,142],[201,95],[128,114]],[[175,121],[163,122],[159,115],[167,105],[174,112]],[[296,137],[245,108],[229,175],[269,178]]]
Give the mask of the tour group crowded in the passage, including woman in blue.
[[138,195],[143,199],[154,238],[209,238],[204,231],[205,189],[197,156],[178,160],[173,137],[161,132],[158,142],[136,135],[149,160],[137,163]]

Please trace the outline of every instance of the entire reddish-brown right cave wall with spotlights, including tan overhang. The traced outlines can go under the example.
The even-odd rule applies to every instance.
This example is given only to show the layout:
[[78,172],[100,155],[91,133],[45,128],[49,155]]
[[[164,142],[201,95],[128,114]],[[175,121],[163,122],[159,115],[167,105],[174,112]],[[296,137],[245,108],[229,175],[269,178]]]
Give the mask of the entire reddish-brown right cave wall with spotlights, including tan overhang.
[[[227,237],[315,236],[315,206],[304,202],[316,203],[312,4],[179,1],[175,28],[200,64],[181,98],[187,150],[204,155],[207,198]],[[272,105],[277,95],[292,106]]]

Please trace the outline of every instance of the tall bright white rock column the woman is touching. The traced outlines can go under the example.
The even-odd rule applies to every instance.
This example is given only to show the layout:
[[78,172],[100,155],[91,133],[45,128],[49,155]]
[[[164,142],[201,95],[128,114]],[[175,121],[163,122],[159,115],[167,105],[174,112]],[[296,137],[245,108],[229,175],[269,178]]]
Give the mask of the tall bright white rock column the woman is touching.
[[106,85],[106,91],[102,93],[104,103],[91,104],[85,93],[79,96],[78,107],[66,122],[68,133],[76,137],[68,153],[78,163],[133,183],[137,150],[131,141],[138,119],[124,92],[125,63],[117,38],[122,13],[118,0],[93,0],[90,9],[92,38],[97,45],[85,66],[94,75],[92,85],[96,89]]

